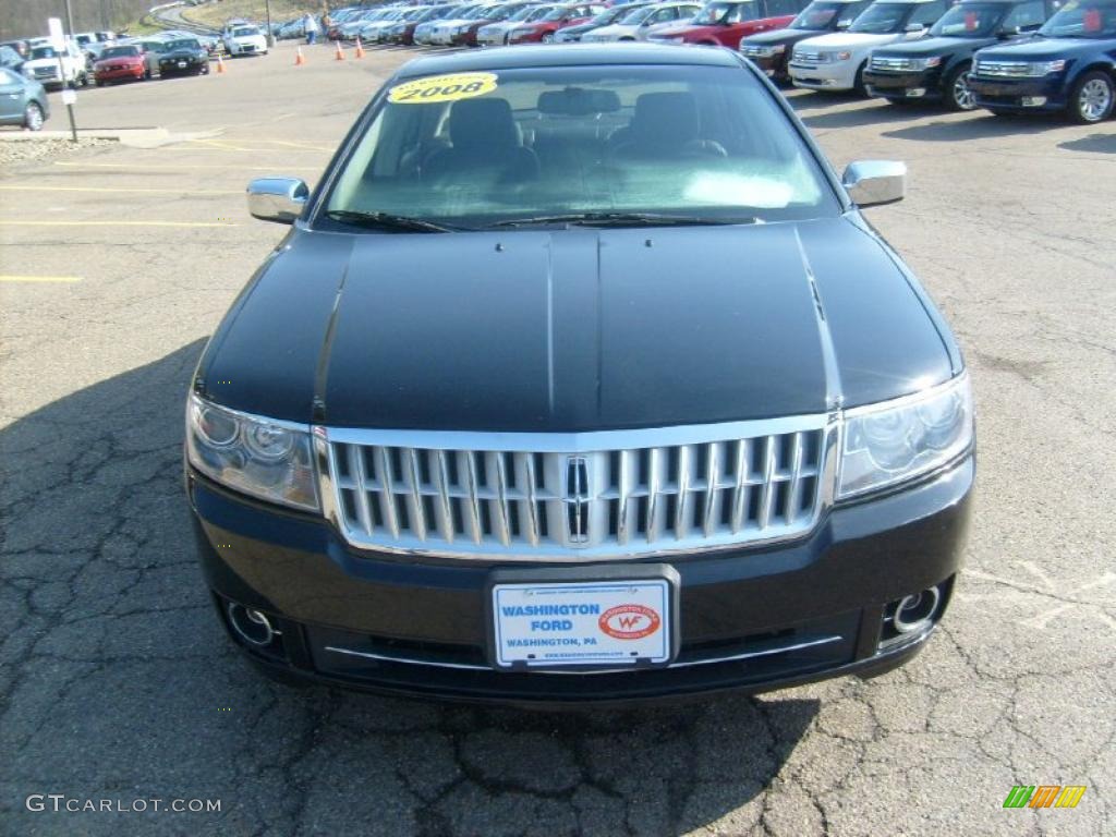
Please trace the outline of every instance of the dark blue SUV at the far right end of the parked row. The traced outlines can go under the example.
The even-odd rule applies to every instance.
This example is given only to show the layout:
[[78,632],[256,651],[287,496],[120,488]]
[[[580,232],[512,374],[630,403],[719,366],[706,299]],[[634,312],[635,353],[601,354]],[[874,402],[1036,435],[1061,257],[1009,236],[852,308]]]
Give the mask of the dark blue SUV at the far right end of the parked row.
[[1104,122],[1116,102],[1116,0],[1070,0],[1038,37],[980,50],[969,86],[993,114],[1062,110]]

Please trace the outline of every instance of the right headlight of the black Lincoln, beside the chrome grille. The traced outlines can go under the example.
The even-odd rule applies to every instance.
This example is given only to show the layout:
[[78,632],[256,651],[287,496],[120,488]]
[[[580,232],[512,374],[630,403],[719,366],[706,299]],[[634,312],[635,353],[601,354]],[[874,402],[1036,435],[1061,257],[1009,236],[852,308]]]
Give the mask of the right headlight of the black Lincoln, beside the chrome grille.
[[837,498],[929,473],[963,454],[972,443],[968,374],[918,395],[849,410]]

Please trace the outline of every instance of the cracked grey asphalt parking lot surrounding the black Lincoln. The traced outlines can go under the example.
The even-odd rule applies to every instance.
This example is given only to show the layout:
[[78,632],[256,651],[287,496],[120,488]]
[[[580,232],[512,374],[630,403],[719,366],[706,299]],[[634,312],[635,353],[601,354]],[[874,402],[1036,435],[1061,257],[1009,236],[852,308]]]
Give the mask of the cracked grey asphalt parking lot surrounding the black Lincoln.
[[[305,51],[79,94],[79,124],[210,138],[0,172],[0,275],[77,280],[0,281],[0,833],[1116,833],[1116,123],[791,94],[835,165],[908,163],[907,200],[869,218],[974,378],[968,567],[920,657],[760,698],[481,710],[260,679],[194,564],[186,383],[283,232],[249,219],[244,182],[312,181],[408,57]],[[1013,785],[1088,790],[1006,810]],[[221,807],[29,810],[36,793]]]

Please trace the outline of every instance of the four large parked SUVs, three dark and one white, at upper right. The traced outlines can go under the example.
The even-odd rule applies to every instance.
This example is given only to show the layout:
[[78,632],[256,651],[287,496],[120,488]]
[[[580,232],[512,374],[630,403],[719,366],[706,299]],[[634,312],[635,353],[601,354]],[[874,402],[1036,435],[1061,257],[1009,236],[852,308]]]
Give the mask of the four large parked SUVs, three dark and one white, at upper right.
[[1116,103],[1116,0],[817,0],[740,51],[777,81],[896,104],[1097,123]]

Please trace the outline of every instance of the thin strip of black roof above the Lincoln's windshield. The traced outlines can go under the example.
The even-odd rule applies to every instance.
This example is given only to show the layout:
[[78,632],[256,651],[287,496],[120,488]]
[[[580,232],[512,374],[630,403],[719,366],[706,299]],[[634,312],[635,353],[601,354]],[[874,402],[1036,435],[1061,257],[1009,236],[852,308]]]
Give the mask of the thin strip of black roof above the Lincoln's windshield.
[[591,67],[594,65],[658,64],[664,66],[739,67],[727,49],[698,49],[657,44],[554,44],[545,49],[497,47],[415,58],[396,76],[440,75],[530,67]]

